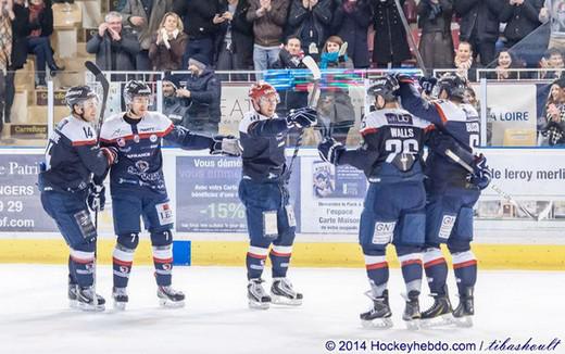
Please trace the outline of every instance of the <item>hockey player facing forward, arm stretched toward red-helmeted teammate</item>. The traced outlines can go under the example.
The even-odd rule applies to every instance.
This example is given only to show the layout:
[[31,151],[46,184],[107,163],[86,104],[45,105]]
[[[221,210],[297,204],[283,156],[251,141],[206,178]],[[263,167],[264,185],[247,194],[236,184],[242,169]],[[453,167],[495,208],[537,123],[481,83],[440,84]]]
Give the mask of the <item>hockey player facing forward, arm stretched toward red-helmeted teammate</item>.
[[[211,153],[238,154],[236,139],[196,135],[158,112],[149,112],[152,92],[148,85],[131,80],[124,88],[127,112],[109,117],[102,125],[102,144],[116,148],[117,164],[110,172],[114,231],[114,306],[124,309],[134,252],[139,242],[140,217],[150,232],[161,305],[184,306],[185,294],[171,287],[173,262],[173,212],[163,176],[161,142],[187,150],[210,149]],[[231,144],[228,146],[228,142]],[[228,149],[229,150],[223,150]]]

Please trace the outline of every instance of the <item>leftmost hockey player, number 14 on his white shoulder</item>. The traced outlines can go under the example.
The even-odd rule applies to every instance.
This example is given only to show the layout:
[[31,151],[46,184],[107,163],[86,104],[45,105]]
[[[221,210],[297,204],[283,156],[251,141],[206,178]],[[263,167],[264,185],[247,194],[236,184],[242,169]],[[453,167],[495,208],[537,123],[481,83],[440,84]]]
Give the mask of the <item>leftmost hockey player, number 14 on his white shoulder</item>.
[[[65,94],[71,115],[49,137],[39,173],[41,204],[71,249],[68,299],[71,306],[103,311],[104,299],[93,288],[97,230],[87,200],[95,210],[97,191],[92,175],[101,176],[116,161],[116,149],[98,148],[93,126],[98,98],[88,86],[72,87]],[[102,205],[99,205],[103,208]]]

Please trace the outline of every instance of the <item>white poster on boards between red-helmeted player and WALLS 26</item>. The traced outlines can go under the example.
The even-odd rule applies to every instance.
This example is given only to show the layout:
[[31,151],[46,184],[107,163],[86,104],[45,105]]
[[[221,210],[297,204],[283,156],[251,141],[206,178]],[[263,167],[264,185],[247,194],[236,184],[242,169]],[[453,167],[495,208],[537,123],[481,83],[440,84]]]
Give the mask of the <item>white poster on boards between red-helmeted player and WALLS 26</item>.
[[334,166],[318,157],[301,159],[303,233],[357,233],[367,182],[350,166]]

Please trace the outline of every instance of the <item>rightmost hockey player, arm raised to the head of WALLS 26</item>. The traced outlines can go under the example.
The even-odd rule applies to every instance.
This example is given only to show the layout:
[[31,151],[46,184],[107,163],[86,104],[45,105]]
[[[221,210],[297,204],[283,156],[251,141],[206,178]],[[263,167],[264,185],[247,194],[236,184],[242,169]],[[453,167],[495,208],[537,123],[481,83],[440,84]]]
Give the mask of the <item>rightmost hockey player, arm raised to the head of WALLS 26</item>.
[[[473,240],[473,205],[480,190],[490,182],[490,172],[482,154],[474,156],[473,148],[479,143],[479,117],[469,104],[463,103],[466,80],[454,74],[442,76],[436,85],[439,100],[423,99],[412,79],[400,76],[402,105],[412,114],[434,123],[439,130],[430,143],[426,161],[428,177],[426,191],[426,250],[424,268],[434,304],[422,313],[424,325],[437,324],[431,319],[441,317],[439,324],[451,321],[452,307],[445,279],[448,267],[440,251],[447,243],[453,257],[460,303],[453,311],[456,323],[470,326],[474,315],[473,292],[477,279],[477,261],[470,250]],[[434,78],[424,78],[422,86],[431,91]],[[455,152],[475,174],[469,173],[445,155]]]

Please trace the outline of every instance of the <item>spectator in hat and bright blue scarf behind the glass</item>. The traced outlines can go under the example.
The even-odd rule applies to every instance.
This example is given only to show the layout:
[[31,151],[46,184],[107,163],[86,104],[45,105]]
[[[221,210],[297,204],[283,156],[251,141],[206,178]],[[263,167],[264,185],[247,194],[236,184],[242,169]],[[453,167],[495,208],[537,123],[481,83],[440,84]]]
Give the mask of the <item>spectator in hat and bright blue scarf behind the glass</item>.
[[[330,36],[324,45],[319,62],[321,68],[353,68],[351,59],[340,55],[344,45],[338,36]],[[348,134],[355,123],[355,110],[351,103],[349,89],[343,88],[347,77],[340,74],[324,75],[322,93],[318,100],[318,124],[337,141],[346,144]],[[337,85],[336,85],[337,84]]]

